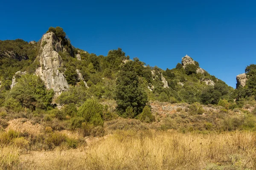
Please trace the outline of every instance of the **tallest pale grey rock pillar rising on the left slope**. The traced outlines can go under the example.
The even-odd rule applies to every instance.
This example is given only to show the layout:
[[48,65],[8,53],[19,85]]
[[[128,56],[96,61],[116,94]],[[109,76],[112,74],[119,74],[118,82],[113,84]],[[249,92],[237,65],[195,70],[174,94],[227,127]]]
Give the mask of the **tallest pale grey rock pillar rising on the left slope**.
[[63,72],[59,69],[62,59],[58,51],[62,50],[63,47],[54,33],[43,35],[38,55],[41,67],[36,69],[36,74],[45,82],[48,89],[55,91],[55,94],[61,94],[69,88]]

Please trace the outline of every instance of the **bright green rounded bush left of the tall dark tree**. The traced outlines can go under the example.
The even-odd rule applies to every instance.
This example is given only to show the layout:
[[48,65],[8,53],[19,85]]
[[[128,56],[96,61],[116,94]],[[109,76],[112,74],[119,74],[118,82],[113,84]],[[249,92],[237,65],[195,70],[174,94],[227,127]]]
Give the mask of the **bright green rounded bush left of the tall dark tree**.
[[88,99],[79,108],[78,115],[83,117],[86,122],[92,123],[93,125],[102,125],[102,111],[103,107],[99,102],[93,99]]

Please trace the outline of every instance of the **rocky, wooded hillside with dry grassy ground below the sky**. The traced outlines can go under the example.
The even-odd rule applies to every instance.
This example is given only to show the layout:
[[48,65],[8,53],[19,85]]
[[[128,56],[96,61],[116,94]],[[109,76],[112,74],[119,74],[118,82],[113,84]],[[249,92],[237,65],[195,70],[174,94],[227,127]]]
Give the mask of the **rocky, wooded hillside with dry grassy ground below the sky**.
[[[97,56],[73,47],[61,27],[38,42],[0,41],[0,168],[256,167],[256,66],[236,77],[236,89],[206,70],[188,55],[166,70],[121,48]],[[156,144],[160,153],[149,152]],[[77,163],[72,154],[92,157]]]

